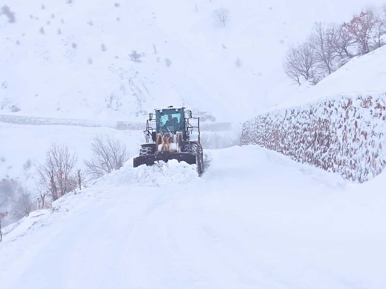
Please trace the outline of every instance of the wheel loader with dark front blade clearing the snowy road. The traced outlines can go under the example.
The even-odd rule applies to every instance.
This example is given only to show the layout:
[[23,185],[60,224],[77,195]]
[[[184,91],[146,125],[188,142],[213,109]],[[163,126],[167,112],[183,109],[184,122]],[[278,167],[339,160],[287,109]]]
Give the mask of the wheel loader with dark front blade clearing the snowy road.
[[[141,145],[139,156],[134,158],[134,168],[140,165],[154,165],[155,161],[178,160],[197,165],[197,173],[204,171],[203,151],[200,144],[200,118],[193,118],[185,108],[154,109],[146,122],[146,143]],[[191,121],[197,125],[193,126]],[[151,125],[154,125],[153,128]],[[197,129],[198,140],[191,140]],[[149,142],[150,139],[152,142]]]

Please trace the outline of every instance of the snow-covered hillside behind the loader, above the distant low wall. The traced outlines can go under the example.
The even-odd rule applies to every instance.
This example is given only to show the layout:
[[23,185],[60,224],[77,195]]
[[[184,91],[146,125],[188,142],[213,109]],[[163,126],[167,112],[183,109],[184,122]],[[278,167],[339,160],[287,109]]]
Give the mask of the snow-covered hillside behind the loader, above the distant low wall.
[[[380,2],[12,0],[16,21],[0,15],[0,113],[142,120],[173,104],[244,120],[282,100],[284,52],[314,21],[341,22]],[[230,11],[226,27],[212,18],[220,7]]]

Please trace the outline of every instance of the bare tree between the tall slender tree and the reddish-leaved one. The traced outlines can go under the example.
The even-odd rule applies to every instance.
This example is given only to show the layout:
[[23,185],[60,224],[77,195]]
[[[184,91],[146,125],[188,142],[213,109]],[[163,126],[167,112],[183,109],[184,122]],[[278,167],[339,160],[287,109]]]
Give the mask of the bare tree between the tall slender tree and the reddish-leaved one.
[[328,27],[327,33],[329,34],[332,42],[332,48],[340,58],[352,57],[349,49],[354,46],[355,39],[350,34],[345,24],[332,24]]

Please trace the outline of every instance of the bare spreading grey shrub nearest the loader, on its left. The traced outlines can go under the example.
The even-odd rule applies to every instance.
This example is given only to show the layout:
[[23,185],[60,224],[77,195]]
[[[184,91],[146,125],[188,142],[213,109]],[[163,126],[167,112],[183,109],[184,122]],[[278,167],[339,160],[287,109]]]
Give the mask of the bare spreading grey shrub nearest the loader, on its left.
[[113,170],[118,170],[129,159],[126,145],[111,135],[95,136],[91,146],[91,159],[84,160],[86,174],[91,178],[100,178]]

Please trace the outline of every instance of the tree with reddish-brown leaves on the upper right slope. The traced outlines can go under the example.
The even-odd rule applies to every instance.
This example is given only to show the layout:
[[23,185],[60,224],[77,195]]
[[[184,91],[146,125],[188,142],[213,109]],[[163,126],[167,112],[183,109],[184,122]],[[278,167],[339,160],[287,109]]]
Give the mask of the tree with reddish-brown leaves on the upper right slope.
[[361,54],[369,53],[371,50],[370,40],[374,29],[374,13],[372,10],[354,15],[349,23],[344,24],[349,30],[355,42],[360,46]]

